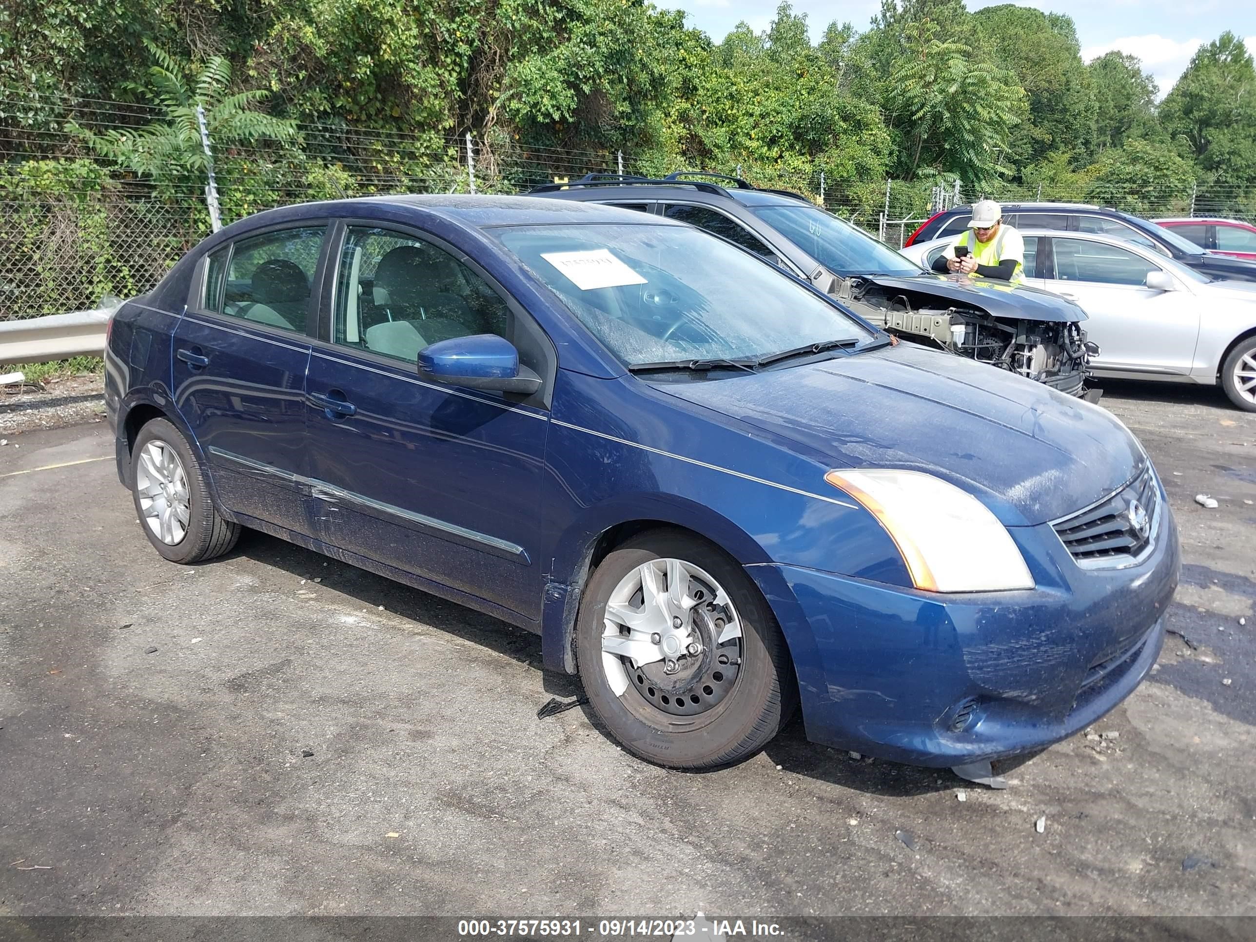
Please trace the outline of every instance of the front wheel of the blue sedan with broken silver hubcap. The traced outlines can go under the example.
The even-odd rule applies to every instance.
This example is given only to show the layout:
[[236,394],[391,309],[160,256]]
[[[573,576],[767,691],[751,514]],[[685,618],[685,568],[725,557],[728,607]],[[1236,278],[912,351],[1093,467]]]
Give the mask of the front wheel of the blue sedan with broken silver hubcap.
[[754,755],[796,703],[789,651],[757,587],[677,531],[642,534],[602,560],[580,604],[577,662],[610,734],[673,769]]

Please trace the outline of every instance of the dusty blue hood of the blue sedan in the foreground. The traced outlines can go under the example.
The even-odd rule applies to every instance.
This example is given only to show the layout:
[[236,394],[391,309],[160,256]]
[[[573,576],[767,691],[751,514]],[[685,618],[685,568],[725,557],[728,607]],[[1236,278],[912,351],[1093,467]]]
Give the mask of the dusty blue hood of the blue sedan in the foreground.
[[831,467],[936,475],[983,500],[1007,525],[1081,510],[1147,461],[1107,409],[906,343],[657,388],[788,438]]

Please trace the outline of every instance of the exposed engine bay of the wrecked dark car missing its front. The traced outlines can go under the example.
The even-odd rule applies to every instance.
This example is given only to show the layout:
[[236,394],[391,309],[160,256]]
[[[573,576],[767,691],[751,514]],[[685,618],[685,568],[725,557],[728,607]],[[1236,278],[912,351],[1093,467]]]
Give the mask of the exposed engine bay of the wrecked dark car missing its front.
[[848,278],[834,296],[904,340],[937,347],[1019,373],[1070,396],[1085,396],[1094,344],[1079,322],[992,317],[945,296]]

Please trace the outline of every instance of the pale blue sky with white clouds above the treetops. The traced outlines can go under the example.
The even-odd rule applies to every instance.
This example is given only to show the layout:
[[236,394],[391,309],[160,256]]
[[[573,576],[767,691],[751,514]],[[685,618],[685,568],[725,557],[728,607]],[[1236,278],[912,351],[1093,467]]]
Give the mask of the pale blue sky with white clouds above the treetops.
[[[772,0],[654,0],[658,6],[679,6],[690,14],[691,25],[705,30],[720,41],[725,34],[745,20],[755,30],[764,30],[776,11]],[[993,3],[968,0],[968,9],[992,6]],[[1252,0],[1048,0],[1039,6],[1053,13],[1065,13],[1078,24],[1081,57],[1089,62],[1109,49],[1132,53],[1143,60],[1143,68],[1156,77],[1161,94],[1167,93],[1191,55],[1201,43],[1232,30],[1247,40],[1256,53],[1256,3]],[[830,21],[850,21],[864,30],[880,9],[879,0],[795,0],[794,10],[805,13],[811,35],[819,39]]]

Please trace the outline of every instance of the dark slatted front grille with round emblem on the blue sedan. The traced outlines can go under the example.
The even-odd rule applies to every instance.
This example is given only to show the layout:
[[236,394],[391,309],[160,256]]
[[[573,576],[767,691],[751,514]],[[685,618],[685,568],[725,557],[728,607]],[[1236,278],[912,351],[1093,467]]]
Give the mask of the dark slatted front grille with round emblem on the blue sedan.
[[1158,510],[1159,489],[1148,463],[1115,494],[1051,526],[1078,563],[1123,565],[1150,546]]

